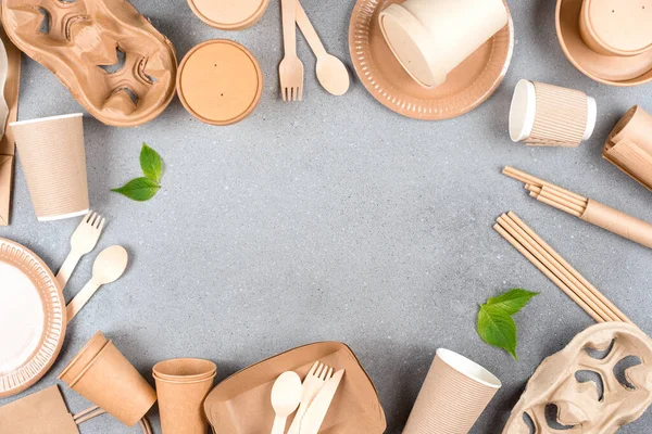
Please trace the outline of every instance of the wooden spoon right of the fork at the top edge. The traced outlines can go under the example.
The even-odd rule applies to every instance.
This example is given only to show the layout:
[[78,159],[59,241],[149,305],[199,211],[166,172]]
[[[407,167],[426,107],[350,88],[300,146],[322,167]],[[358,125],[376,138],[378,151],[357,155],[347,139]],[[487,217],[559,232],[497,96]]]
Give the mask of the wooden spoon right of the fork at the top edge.
[[316,72],[322,87],[336,97],[347,93],[350,84],[349,71],[342,61],[328,54],[299,0],[297,0],[297,24],[317,56]]

